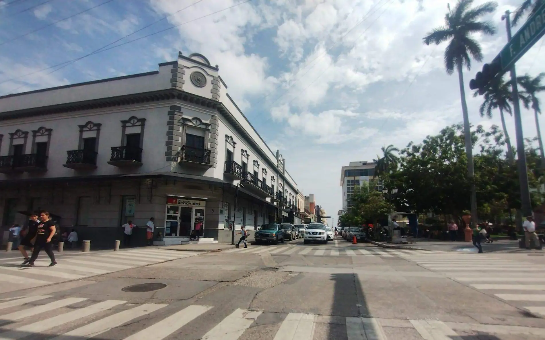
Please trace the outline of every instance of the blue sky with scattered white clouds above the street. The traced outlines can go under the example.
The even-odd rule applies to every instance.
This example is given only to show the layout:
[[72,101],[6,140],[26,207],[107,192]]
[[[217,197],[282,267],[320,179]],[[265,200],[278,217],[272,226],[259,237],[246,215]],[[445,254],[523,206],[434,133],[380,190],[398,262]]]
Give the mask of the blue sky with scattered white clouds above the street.
[[[280,149],[299,189],[314,193],[336,221],[342,166],[462,122],[458,77],[444,68],[446,44],[422,44],[444,24],[448,3],[0,0],[0,95],[154,71],[178,51],[201,53],[219,65],[229,95],[270,149]],[[501,15],[520,3],[499,0],[485,17],[498,33],[474,36],[483,62],[507,43]],[[544,43],[519,60],[518,75],[545,71]],[[464,70],[469,119],[500,125],[497,112],[480,117],[482,99],[468,86],[481,67]],[[522,120],[524,136],[535,137],[534,114],[523,108]],[[511,117],[507,125],[514,140]]]

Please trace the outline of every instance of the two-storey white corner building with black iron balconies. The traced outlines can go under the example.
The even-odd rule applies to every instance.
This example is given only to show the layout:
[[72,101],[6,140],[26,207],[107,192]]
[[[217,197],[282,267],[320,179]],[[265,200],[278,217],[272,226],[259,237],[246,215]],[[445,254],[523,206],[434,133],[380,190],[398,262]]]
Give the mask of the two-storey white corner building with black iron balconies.
[[94,248],[150,217],[158,242],[185,242],[197,224],[231,241],[233,222],[252,230],[300,216],[285,163],[197,53],[158,71],[0,97],[4,230],[26,221],[19,212],[48,210]]

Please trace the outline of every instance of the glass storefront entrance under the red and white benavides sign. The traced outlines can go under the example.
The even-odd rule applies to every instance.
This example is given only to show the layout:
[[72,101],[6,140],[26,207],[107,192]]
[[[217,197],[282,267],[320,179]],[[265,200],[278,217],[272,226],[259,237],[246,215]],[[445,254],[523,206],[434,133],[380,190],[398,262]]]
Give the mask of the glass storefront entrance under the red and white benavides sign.
[[204,230],[205,201],[168,197],[165,218],[166,237],[189,237],[198,225],[199,234]]

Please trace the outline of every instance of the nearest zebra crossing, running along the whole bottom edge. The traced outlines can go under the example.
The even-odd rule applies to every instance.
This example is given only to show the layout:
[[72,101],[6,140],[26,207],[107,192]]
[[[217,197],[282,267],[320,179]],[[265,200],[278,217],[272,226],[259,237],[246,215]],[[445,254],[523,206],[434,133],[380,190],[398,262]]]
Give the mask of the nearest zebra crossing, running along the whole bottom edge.
[[[219,317],[210,317],[214,309]],[[56,298],[38,295],[0,299],[0,340],[26,337],[50,340],[86,340],[90,338],[122,340],[162,340],[195,338],[202,340],[237,340],[252,327],[271,325],[274,331],[261,340],[325,340],[318,325],[342,325],[346,332],[338,340],[396,340],[385,331],[389,319],[342,317],[327,320],[329,315],[284,313],[271,318],[264,311],[244,308],[221,308],[209,305],[175,305],[168,303],[129,303],[124,300],[94,301],[87,298]],[[199,327],[197,320],[207,320]],[[209,320],[215,320],[210,322]],[[272,321],[271,321],[272,320]],[[545,336],[537,327],[492,326],[450,323],[439,320],[408,320],[421,339],[458,338],[456,329],[493,331],[506,334]],[[247,336],[244,338],[248,338]],[[411,337],[416,339],[414,337]]]

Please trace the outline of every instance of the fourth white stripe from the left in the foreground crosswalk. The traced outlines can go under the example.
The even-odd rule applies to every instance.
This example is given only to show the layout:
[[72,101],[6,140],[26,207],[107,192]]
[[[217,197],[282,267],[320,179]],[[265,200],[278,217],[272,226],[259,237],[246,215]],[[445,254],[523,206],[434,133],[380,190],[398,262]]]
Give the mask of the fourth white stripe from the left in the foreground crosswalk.
[[121,326],[132,319],[153,313],[166,306],[168,305],[160,303],[144,303],[144,305],[126,309],[125,311],[113,315],[108,315],[107,318],[96,320],[93,323],[84,325],[50,340],[86,340],[109,331],[114,327]]

